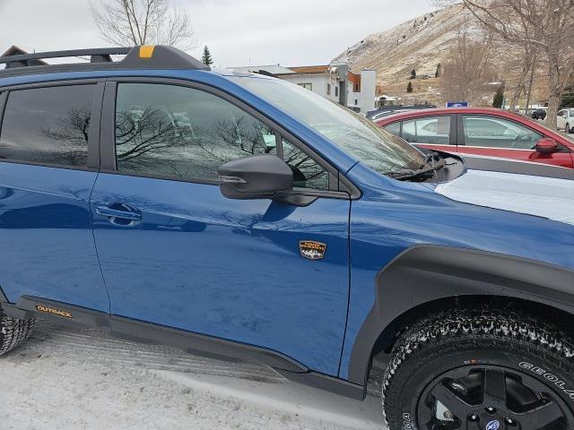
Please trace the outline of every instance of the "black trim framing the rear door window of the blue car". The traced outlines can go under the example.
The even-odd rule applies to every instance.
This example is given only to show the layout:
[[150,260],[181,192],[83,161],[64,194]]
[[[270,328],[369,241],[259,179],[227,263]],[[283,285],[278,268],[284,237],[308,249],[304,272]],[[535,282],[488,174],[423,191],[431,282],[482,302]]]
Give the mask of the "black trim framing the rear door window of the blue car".
[[0,159],[2,163],[22,164],[28,166],[39,166],[44,168],[65,168],[66,170],[81,170],[97,172],[100,169],[100,113],[102,108],[101,98],[103,97],[105,79],[77,79],[50,82],[34,82],[0,87],[0,135],[4,125],[4,113],[8,104],[8,97],[12,91],[34,90],[52,87],[69,87],[78,85],[93,85],[94,96],[91,103],[90,133],[88,136],[88,154],[85,167],[65,166],[61,164],[40,163],[37,161],[26,161],[22,159]]

